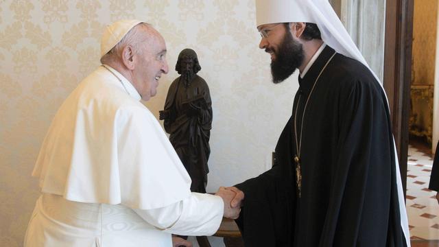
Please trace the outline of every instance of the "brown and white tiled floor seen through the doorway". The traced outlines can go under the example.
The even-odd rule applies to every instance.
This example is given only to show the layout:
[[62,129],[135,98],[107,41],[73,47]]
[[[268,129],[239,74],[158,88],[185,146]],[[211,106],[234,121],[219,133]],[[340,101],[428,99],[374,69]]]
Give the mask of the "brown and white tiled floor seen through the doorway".
[[439,204],[430,191],[433,160],[428,149],[409,146],[407,162],[407,214],[411,239],[439,239]]

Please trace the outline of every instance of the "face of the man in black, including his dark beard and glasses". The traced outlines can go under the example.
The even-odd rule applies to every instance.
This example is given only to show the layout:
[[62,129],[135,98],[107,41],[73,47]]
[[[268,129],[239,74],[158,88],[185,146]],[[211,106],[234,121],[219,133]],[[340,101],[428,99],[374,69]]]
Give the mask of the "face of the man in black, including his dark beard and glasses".
[[293,38],[283,23],[261,25],[258,30],[262,36],[259,48],[271,55],[273,82],[283,82],[302,64],[305,56],[302,44]]

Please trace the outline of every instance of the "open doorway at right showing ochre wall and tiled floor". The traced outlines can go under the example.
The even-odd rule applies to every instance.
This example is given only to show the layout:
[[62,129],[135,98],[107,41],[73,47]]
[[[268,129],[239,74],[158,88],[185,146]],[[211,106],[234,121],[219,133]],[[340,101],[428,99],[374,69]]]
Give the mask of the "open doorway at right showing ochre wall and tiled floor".
[[[412,239],[439,239],[439,204],[429,180],[434,137],[438,0],[414,0],[406,206]],[[437,124],[436,124],[437,125]]]

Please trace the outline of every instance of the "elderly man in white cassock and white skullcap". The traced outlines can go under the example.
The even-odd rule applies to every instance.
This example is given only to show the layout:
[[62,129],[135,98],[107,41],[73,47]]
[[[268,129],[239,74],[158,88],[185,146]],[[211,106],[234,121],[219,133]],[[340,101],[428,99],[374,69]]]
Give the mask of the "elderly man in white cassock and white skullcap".
[[[191,246],[212,235],[232,191],[191,193],[191,179],[154,115],[139,102],[168,72],[165,40],[118,21],[102,36],[102,66],[67,97],[34,167],[38,198],[24,246]],[[174,243],[173,243],[174,242]]]

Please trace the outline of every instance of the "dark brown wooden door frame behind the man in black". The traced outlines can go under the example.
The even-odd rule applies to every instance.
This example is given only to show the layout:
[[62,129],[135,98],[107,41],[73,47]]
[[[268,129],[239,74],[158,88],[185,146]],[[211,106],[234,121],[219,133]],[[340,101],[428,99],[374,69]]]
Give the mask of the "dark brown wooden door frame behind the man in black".
[[403,191],[407,187],[414,0],[386,0],[383,86],[388,96]]

